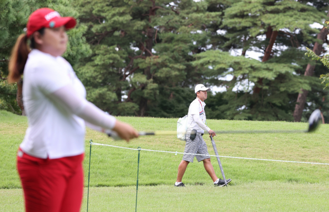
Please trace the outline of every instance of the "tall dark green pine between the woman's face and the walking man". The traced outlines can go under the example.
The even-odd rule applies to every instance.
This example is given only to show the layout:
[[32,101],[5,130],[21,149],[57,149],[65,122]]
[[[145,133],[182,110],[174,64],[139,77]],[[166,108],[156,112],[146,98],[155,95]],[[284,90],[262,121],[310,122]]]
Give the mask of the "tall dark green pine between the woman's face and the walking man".
[[77,1],[93,55],[79,75],[88,100],[120,115],[178,117],[194,99],[191,85],[203,82],[193,54],[207,50],[207,25],[221,12],[207,2]]

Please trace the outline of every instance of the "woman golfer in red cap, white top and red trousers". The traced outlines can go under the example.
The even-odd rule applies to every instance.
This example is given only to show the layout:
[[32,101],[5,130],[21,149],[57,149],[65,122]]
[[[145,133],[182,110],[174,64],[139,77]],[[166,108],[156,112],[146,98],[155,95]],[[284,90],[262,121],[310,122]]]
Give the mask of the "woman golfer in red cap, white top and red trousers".
[[84,86],[61,57],[68,41],[66,29],[75,25],[72,17],[48,8],[36,10],[11,55],[8,81],[17,82],[24,72],[23,103],[29,123],[17,152],[26,211],[80,210],[85,125],[113,130],[126,141],[138,137],[130,125],[86,100]]

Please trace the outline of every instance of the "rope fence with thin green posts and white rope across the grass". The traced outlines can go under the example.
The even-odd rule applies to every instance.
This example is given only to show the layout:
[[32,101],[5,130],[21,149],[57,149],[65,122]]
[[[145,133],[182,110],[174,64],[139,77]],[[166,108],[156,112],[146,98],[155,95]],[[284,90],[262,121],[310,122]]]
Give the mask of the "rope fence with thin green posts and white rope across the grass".
[[162,151],[162,150],[153,150],[153,149],[142,149],[140,147],[138,147],[137,149],[134,149],[134,148],[128,148],[128,147],[122,147],[122,146],[113,146],[113,145],[108,145],[108,144],[94,143],[93,140],[90,140],[89,143],[90,143],[90,152],[89,152],[87,212],[88,212],[88,204],[89,204],[90,159],[92,157],[92,145],[109,146],[109,147],[114,147],[114,148],[121,148],[121,149],[129,149],[129,150],[138,151],[138,168],[137,168],[137,182],[136,182],[136,207],[135,207],[135,212],[137,211],[137,192],[138,192],[138,172],[139,172],[140,151],[154,151],[154,152],[174,153],[175,155],[177,155],[177,154],[183,154],[183,155],[186,154],[186,155],[195,155],[195,156],[210,156],[210,157],[216,157],[216,158],[234,158],[234,159],[244,159],[244,160],[258,160],[258,161],[275,161],[275,162],[287,162],[287,163],[305,163],[305,164],[329,165],[329,163],[314,163],[314,162],[302,162],[302,161],[283,161],[283,160],[271,160],[271,159],[259,159],[259,158],[243,158],[243,157],[232,157],[232,156],[202,155],[202,154],[184,153],[184,152],[177,152],[177,151]]

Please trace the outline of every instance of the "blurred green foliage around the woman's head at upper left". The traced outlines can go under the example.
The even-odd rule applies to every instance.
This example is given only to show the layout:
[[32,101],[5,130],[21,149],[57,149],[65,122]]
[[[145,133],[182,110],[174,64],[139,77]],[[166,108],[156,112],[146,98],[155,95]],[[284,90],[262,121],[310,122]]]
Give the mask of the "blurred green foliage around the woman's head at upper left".
[[[63,16],[78,17],[78,12],[69,1],[61,0],[33,0],[33,1],[0,1],[0,109],[22,113],[16,103],[16,85],[9,85],[6,81],[8,62],[11,49],[17,37],[25,33],[24,28],[29,15],[36,9],[49,7],[57,10]],[[85,26],[78,26],[70,31],[67,51],[63,55],[71,64],[91,53],[83,34]]]

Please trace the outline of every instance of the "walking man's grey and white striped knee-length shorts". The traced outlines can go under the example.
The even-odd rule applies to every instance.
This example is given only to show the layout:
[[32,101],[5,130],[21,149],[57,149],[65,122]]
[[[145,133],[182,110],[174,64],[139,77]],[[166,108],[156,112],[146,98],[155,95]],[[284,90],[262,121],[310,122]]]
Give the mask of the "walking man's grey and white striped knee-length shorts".
[[[185,144],[184,153],[209,155],[207,144],[200,134],[197,134],[193,141],[190,139],[190,134],[186,134],[186,144]],[[184,154],[182,160],[193,163],[194,156],[196,157],[197,162],[210,158],[210,156],[197,156],[197,155]]]

